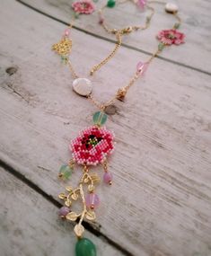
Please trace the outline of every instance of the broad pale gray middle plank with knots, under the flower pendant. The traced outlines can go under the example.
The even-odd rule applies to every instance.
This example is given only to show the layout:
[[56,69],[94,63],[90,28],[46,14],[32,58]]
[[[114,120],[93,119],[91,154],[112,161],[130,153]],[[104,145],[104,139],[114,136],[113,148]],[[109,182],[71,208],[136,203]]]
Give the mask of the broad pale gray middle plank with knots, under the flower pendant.
[[[71,91],[66,66],[49,50],[65,26],[22,4],[1,4],[0,158],[57,199],[68,142],[92,123],[95,108]],[[82,75],[113,46],[80,31],[73,36]],[[93,78],[94,93],[110,98],[146,58],[120,49]],[[8,66],[17,73],[7,75]],[[109,119],[118,142],[110,159],[115,180],[98,189],[94,226],[132,255],[210,254],[210,100],[209,75],[156,59]],[[78,177],[75,172],[72,182]],[[55,219],[49,216],[50,223]]]

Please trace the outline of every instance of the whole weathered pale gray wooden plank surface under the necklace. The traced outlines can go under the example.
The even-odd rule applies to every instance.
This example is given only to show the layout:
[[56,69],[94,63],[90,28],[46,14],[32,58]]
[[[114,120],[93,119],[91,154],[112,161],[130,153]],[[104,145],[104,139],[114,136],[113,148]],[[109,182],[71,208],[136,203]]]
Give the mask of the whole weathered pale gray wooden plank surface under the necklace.
[[[70,2],[0,1],[1,256],[74,255],[73,225],[57,218],[64,189],[57,171],[70,157],[69,140],[96,109],[71,91],[68,69],[50,50],[70,21]],[[211,255],[211,4],[178,4],[186,44],[154,60],[107,124],[117,137],[114,182],[99,187],[97,221],[86,224],[98,255]],[[154,52],[154,35],[171,28],[170,15],[154,7],[150,29],[125,37],[94,75],[101,101]],[[117,28],[145,21],[132,4],[107,17]],[[72,31],[80,74],[114,46],[97,22],[97,13],[80,17]]]

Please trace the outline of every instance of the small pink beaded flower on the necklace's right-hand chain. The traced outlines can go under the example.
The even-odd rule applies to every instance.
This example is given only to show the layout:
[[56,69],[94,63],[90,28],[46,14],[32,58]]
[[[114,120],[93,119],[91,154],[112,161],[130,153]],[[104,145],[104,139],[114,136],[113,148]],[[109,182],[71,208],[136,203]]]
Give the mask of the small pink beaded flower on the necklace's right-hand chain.
[[163,42],[165,45],[176,44],[180,45],[184,43],[185,35],[177,30],[164,30],[160,31],[157,35],[157,39]]

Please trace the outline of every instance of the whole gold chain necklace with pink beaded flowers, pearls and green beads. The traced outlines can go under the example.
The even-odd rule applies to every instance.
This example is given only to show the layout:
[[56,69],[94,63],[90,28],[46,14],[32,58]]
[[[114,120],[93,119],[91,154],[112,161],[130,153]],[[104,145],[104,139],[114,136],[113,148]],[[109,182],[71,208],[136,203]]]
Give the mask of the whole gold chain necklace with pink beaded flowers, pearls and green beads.
[[[111,4],[112,2],[112,4]],[[102,16],[102,11],[105,7],[114,7],[117,1],[109,0],[106,6],[103,6],[100,10],[100,23],[105,31],[109,33],[113,33],[117,36],[117,45],[119,46],[119,37],[125,34],[126,28],[124,29],[110,29],[108,25],[105,23],[105,19]],[[125,3],[121,2],[121,3]],[[100,182],[100,176],[97,172],[92,172],[92,166],[101,165],[104,175],[103,181],[106,184],[111,185],[112,183],[112,173],[109,171],[107,158],[110,154],[113,153],[115,148],[115,136],[112,131],[104,127],[108,116],[107,114],[115,113],[115,105],[116,101],[124,101],[127,91],[129,88],[135,84],[136,80],[144,75],[146,69],[154,59],[157,57],[163,49],[174,45],[180,45],[184,42],[184,34],[178,31],[180,27],[180,17],[178,16],[178,7],[175,4],[166,4],[160,1],[148,1],[148,4],[145,3],[144,0],[135,1],[136,4],[142,4],[142,6],[147,6],[154,13],[154,8],[149,6],[148,4],[158,3],[165,4],[165,11],[167,13],[171,13],[177,20],[174,23],[172,29],[160,31],[156,38],[159,40],[159,44],[157,49],[154,51],[154,54],[149,57],[145,62],[138,62],[136,65],[136,70],[134,74],[129,79],[128,83],[119,88],[119,90],[115,93],[114,97],[112,97],[107,102],[99,102],[92,95],[92,84],[90,80],[86,78],[80,78],[75,73],[75,69],[73,68],[70,57],[68,56],[71,48],[72,48],[72,40],[69,38],[69,31],[73,27],[71,24],[68,29],[65,31],[62,40],[58,42],[56,45],[53,45],[53,50],[55,50],[65,62],[66,65],[70,67],[71,74],[75,79],[73,82],[73,90],[75,93],[84,96],[86,99],[90,100],[99,110],[93,114],[92,120],[93,125],[81,130],[77,137],[71,140],[69,149],[72,154],[72,159],[69,163],[61,166],[59,171],[59,178],[63,180],[68,180],[72,175],[72,172],[76,165],[82,166],[83,173],[81,179],[76,188],[67,186],[66,192],[60,193],[58,198],[64,201],[64,207],[59,210],[59,216],[69,221],[78,220],[75,225],[74,231],[78,238],[78,241],[75,245],[75,255],[76,256],[96,256],[96,248],[91,240],[84,238],[84,225],[82,224],[84,220],[94,221],[96,218],[95,209],[100,204],[100,199],[98,195],[95,193],[95,186]],[[138,3],[137,3],[138,2]],[[143,4],[144,3],[144,4]],[[151,13],[150,18],[146,20],[145,28],[148,27],[148,22],[153,13]],[[135,26],[128,26],[127,29],[129,31],[136,31]],[[115,54],[112,52],[111,55]],[[108,62],[110,57],[105,58],[102,65]],[[90,75],[101,68],[102,66],[99,64],[97,68],[92,68]],[[96,67],[96,66],[95,66]],[[92,72],[93,71],[93,72]],[[74,202],[80,200],[82,202],[82,210],[77,213],[73,210],[72,205]]]

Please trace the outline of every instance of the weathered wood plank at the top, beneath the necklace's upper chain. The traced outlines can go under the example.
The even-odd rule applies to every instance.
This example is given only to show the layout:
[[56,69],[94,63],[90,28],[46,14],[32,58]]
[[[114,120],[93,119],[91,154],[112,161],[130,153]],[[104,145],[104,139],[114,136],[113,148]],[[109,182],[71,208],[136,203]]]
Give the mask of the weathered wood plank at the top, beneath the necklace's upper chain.
[[[57,17],[63,22],[70,22],[72,9],[68,0],[22,0],[23,3],[30,4],[42,12]],[[107,0],[99,1],[98,8],[106,3]],[[163,1],[168,2],[168,1]],[[171,2],[171,1],[170,1]],[[181,31],[186,34],[186,44],[182,47],[173,47],[171,50],[163,52],[162,56],[184,64],[211,73],[210,57],[210,30],[211,30],[211,4],[206,0],[178,0],[174,1],[180,6],[180,16],[182,19]],[[156,10],[154,20],[149,30],[135,32],[126,36],[123,43],[136,49],[154,52],[157,47],[155,35],[158,31],[171,28],[174,19],[163,12],[163,4],[152,4]],[[128,24],[143,24],[145,16],[148,13],[140,13],[133,4],[120,4],[119,7],[106,11],[108,23],[112,27],[121,28]],[[108,35],[98,25],[98,14],[83,16],[78,19],[75,25],[90,31],[95,35],[101,35],[105,38],[115,40],[113,36]],[[53,30],[53,27],[51,28]],[[59,34],[58,34],[59,36]]]

